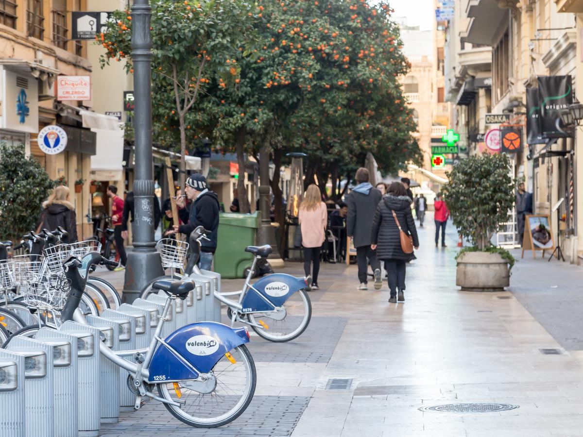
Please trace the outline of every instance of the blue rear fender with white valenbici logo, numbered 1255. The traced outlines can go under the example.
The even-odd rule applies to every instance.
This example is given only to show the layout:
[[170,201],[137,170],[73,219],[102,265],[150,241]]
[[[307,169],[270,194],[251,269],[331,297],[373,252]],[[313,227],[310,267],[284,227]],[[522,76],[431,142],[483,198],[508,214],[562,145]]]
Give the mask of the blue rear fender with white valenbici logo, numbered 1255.
[[[249,343],[244,327],[231,328],[223,323],[198,322],[175,330],[164,340],[173,351],[160,344],[149,368],[149,382],[196,379],[199,372],[208,373],[224,354],[234,347]],[[182,358],[178,358],[179,354]]]

